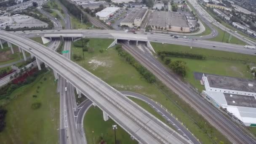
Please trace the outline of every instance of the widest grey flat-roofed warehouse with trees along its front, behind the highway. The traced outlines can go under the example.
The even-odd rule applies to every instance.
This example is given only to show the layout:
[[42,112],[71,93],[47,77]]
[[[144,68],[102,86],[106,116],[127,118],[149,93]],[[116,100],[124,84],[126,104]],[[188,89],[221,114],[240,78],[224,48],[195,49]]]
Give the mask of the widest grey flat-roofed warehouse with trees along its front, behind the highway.
[[171,11],[153,11],[148,26],[155,31],[190,32],[186,16]]

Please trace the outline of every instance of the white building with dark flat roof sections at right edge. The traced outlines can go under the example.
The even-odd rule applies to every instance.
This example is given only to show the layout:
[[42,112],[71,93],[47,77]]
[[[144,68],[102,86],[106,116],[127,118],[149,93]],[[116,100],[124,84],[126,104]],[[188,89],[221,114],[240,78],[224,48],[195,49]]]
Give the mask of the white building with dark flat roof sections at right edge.
[[256,126],[256,80],[203,74],[203,96],[245,126]]

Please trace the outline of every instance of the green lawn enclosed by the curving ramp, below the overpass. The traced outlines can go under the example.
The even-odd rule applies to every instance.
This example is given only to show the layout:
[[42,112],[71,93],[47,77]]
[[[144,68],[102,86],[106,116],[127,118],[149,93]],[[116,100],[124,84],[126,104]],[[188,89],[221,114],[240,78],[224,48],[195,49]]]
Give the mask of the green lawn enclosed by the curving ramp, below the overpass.
[[[115,134],[112,125],[116,125],[116,123],[111,119],[104,121],[102,111],[98,107],[90,107],[88,109],[83,123],[87,144],[98,144],[100,136],[103,137],[107,144],[115,144]],[[119,125],[117,125],[116,139],[120,141],[120,144],[138,144]]]

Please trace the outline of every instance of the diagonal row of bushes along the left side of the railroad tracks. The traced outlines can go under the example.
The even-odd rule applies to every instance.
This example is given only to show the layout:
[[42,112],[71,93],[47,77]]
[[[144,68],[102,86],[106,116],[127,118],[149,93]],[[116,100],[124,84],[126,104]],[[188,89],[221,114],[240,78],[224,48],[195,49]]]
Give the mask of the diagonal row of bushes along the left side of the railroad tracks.
[[143,75],[143,77],[149,82],[154,83],[156,81],[155,75],[153,75],[147,68],[143,67],[139,62],[137,62],[133,56],[131,56],[129,53],[125,52],[122,49],[121,45],[116,46],[116,50],[118,51],[118,55],[123,57],[125,61],[127,61],[129,64],[131,64],[135,69]]

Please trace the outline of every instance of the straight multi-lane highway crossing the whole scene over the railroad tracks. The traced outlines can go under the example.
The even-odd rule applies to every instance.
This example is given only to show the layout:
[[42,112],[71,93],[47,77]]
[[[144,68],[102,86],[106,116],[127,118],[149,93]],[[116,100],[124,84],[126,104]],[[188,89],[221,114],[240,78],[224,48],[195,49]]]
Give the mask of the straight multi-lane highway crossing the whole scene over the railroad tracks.
[[138,32],[133,34],[131,32],[115,31],[115,30],[76,30],[76,29],[63,29],[63,30],[44,30],[40,31],[26,31],[13,32],[19,35],[29,33],[30,36],[40,35],[45,37],[95,37],[95,38],[117,38],[118,40],[139,40],[139,41],[152,41],[156,43],[169,43],[176,45],[185,45],[198,48],[207,48],[219,51],[230,51],[235,53],[244,53],[255,55],[256,50],[244,48],[244,45],[236,45],[230,43],[221,43],[209,40],[192,40],[187,38],[172,38],[170,35],[165,34],[151,34],[149,32]]

